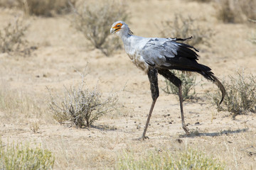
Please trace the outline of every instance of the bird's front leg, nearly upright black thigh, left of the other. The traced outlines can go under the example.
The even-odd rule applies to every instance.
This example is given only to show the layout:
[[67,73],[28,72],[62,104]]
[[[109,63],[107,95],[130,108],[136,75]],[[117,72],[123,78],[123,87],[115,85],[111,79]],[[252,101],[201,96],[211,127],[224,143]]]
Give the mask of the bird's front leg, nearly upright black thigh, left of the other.
[[146,130],[149,126],[149,120],[151,118],[151,114],[153,112],[154,105],[156,103],[156,99],[159,97],[157,69],[155,69],[154,67],[149,67],[149,70],[148,70],[147,74],[148,74],[148,77],[149,77],[151,97],[152,97],[153,101],[151,103],[151,108],[150,108],[150,111],[149,111],[149,115],[148,115],[148,118],[146,120],[146,125],[145,125],[145,128],[144,128],[144,132],[142,134],[142,140],[144,140],[146,138]]

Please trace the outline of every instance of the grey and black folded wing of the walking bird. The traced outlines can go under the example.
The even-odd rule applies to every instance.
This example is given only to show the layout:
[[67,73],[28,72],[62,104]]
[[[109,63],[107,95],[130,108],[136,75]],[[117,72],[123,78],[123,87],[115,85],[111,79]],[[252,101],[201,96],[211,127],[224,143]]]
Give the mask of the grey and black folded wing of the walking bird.
[[[198,55],[191,45],[176,40],[181,38],[150,38],[142,48],[145,62],[155,67],[177,69],[178,67],[192,67],[198,64]],[[185,68],[184,68],[185,69]],[[182,68],[181,68],[182,70]]]

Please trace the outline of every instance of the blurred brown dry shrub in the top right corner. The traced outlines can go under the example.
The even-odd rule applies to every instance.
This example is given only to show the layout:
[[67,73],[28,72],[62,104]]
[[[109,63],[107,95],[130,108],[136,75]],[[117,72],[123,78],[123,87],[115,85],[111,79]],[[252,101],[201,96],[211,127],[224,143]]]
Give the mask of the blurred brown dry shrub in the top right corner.
[[215,0],[217,18],[224,23],[242,23],[256,19],[256,0]]

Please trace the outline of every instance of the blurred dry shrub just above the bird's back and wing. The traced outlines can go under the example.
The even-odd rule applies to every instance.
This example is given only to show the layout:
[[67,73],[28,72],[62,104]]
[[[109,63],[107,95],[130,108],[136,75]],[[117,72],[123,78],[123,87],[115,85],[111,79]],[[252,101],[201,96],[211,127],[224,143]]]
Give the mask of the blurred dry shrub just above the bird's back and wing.
[[210,45],[208,39],[213,36],[213,31],[210,28],[205,28],[197,25],[193,18],[188,16],[184,18],[181,14],[175,14],[174,20],[163,21],[161,30],[161,36],[171,37],[171,38],[188,38],[193,37],[188,40],[189,45],[205,44]]

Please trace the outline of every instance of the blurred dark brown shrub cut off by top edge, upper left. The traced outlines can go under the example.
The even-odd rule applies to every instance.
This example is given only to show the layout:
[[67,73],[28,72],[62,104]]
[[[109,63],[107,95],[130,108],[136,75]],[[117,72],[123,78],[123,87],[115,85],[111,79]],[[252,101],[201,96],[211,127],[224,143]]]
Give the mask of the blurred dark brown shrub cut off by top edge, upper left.
[[[75,1],[74,1],[75,3]],[[18,7],[28,15],[54,16],[70,12],[67,0],[18,0]]]

